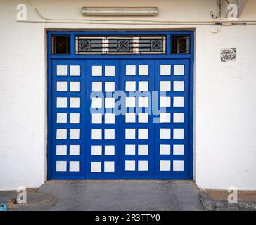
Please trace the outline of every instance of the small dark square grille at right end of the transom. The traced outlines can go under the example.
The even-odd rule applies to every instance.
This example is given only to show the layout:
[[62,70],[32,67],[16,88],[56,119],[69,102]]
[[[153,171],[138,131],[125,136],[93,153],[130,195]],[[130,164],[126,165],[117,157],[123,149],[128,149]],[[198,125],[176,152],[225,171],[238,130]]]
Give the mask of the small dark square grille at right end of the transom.
[[172,35],[172,54],[189,54],[189,35]]

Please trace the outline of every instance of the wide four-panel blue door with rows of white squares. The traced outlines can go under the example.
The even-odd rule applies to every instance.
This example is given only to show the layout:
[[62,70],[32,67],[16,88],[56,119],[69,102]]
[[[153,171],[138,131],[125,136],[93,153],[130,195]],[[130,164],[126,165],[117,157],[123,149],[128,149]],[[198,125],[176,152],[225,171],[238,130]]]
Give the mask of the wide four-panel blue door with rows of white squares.
[[189,60],[52,60],[51,179],[188,179]]

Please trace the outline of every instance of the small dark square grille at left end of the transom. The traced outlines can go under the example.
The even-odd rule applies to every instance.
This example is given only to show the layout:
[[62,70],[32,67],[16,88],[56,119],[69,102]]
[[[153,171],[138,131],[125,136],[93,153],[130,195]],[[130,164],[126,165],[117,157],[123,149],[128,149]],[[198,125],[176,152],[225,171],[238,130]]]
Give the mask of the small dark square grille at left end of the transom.
[[51,43],[52,54],[70,54],[70,35],[53,35],[51,36]]

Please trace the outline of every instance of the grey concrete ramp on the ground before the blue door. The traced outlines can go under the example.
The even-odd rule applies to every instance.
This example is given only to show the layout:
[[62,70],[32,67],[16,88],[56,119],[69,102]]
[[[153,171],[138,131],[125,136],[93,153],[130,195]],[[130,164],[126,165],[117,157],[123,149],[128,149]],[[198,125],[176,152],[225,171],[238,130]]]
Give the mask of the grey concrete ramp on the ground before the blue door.
[[203,210],[193,181],[49,181],[38,191],[53,201],[13,210]]

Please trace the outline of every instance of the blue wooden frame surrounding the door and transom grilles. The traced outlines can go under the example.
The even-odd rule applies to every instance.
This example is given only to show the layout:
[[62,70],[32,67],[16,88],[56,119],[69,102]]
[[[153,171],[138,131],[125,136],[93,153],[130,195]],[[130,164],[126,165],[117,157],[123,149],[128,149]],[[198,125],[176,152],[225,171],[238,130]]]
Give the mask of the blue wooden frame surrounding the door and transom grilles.
[[[70,55],[53,55],[51,54],[51,35],[70,35]],[[190,36],[190,53],[189,54],[171,54],[171,36],[188,34]],[[166,35],[166,54],[148,54],[148,55],[75,55],[75,35],[103,36],[103,35]],[[177,177],[175,179],[193,179],[193,63],[194,63],[194,34],[193,31],[115,31],[115,32],[85,32],[85,31],[49,31],[47,32],[47,179],[67,179],[65,176],[52,176],[51,165],[51,126],[52,126],[52,107],[51,107],[51,86],[52,86],[52,63],[53,60],[179,60],[186,59],[189,61],[189,115],[188,115],[188,171],[186,177]],[[69,176],[68,179],[85,179],[85,175],[79,174]],[[157,179],[166,179],[165,176]]]

